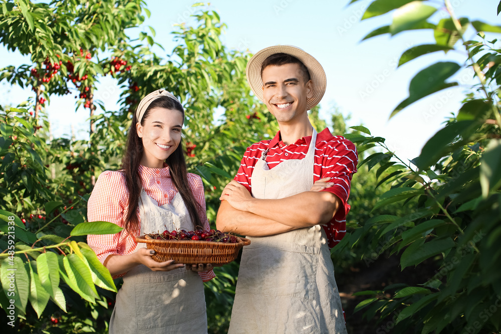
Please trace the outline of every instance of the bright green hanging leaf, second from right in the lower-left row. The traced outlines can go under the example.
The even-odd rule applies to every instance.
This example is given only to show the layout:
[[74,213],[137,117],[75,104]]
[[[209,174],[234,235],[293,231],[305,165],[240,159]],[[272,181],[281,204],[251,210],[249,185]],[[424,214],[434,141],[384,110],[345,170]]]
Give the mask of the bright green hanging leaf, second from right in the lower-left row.
[[77,254],[65,256],[63,264],[69,280],[80,290],[76,292],[86,300],[89,300],[89,297],[92,298],[92,302],[94,302],[94,298],[98,297],[98,293],[92,281],[92,274],[87,264],[78,257]]

